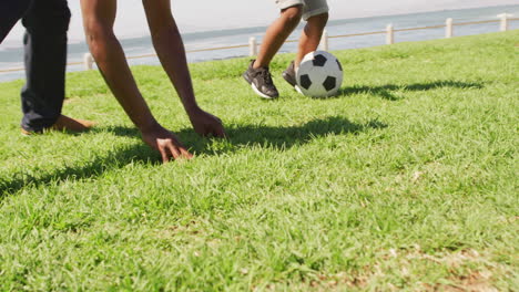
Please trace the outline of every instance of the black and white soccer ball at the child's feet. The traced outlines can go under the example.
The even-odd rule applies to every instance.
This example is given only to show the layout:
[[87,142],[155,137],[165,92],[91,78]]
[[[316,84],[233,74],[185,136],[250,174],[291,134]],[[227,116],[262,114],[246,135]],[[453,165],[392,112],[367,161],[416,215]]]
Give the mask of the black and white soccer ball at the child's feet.
[[307,53],[296,72],[296,90],[312,97],[327,97],[343,84],[343,66],[337,58],[325,51]]

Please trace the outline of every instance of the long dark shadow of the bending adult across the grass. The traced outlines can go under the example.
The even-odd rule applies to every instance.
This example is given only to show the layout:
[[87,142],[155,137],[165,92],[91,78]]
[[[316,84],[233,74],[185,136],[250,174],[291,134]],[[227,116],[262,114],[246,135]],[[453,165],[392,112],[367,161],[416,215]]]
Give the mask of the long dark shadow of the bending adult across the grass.
[[[191,146],[192,152],[196,154],[218,155],[253,146],[284,150],[293,146],[309,143],[322,136],[357,134],[368,128],[379,129],[385,127],[387,127],[387,125],[377,119],[364,124],[356,124],[346,118],[336,116],[315,119],[299,126],[287,127],[235,125],[226,129],[228,139],[223,142],[223,144],[227,145],[225,147],[215,147],[215,142],[208,138],[201,138],[191,128],[182,129],[176,134],[185,145]],[[139,132],[130,127],[115,126],[94,128],[91,131],[93,135],[100,132],[109,132],[118,136],[140,137]],[[108,170],[122,168],[130,163],[160,165],[161,159],[157,153],[153,152],[143,143],[123,146],[81,166],[63,166],[55,169],[54,173],[38,177],[28,174],[14,174],[12,176],[13,179],[3,180],[3,178],[0,178],[0,199],[26,187],[39,187],[53,181],[61,182],[64,180],[99,177]]]

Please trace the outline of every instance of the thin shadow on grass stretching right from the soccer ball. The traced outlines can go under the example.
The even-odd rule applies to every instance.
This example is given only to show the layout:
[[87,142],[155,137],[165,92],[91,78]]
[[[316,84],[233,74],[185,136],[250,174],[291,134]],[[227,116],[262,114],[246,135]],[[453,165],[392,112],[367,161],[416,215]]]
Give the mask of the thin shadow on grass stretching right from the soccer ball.
[[401,97],[395,95],[394,92],[397,91],[430,91],[441,87],[452,87],[452,88],[482,88],[484,85],[481,83],[475,82],[460,82],[460,81],[435,81],[435,82],[426,82],[426,83],[415,83],[415,84],[386,84],[380,86],[363,86],[363,85],[354,85],[352,87],[343,87],[339,90],[337,97],[344,95],[353,95],[353,94],[370,94],[380,96],[384,100],[388,101],[398,101]]

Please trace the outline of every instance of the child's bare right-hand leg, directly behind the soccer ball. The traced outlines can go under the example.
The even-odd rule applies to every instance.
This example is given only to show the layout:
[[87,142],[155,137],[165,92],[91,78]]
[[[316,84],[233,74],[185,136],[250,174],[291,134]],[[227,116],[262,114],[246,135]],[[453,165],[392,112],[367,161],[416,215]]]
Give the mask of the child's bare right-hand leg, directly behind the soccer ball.
[[311,17],[307,20],[305,29],[299,38],[299,45],[297,50],[297,55],[295,59],[295,66],[298,67],[303,58],[315,50],[320,42],[320,36],[323,31],[328,22],[328,13],[322,13],[315,17]]

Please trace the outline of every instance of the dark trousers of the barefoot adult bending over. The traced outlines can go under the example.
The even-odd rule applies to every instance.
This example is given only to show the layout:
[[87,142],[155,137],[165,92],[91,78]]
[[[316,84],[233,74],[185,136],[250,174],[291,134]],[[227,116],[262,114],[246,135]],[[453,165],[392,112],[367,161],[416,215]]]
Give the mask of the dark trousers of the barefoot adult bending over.
[[27,76],[21,126],[40,132],[55,123],[63,105],[70,10],[67,0],[0,0],[0,41],[20,18]]

